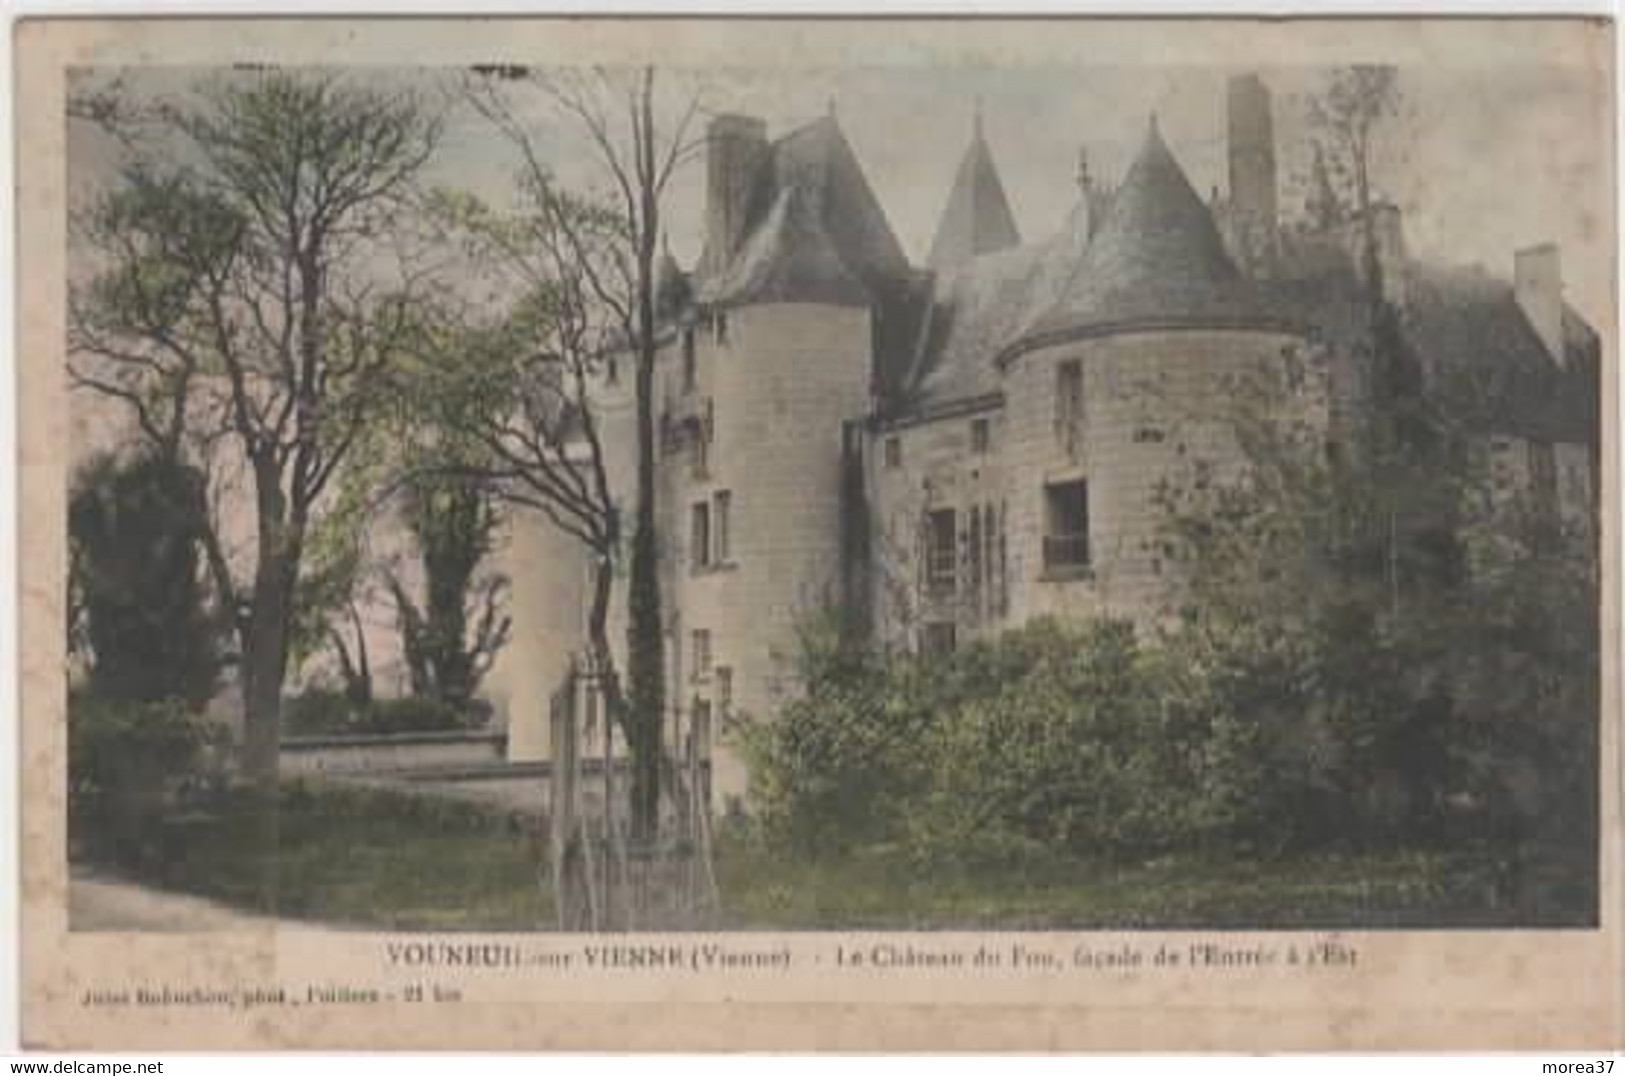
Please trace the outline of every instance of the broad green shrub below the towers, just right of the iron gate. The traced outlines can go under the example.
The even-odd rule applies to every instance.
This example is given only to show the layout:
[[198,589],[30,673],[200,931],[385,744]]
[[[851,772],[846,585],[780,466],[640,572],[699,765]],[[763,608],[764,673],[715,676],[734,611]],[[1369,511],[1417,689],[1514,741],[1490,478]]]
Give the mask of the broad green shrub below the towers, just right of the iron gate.
[[941,657],[881,657],[814,626],[796,668],[800,697],[746,735],[756,822],[796,855],[1115,855],[1207,824],[1198,707],[1128,624],[1038,621]]

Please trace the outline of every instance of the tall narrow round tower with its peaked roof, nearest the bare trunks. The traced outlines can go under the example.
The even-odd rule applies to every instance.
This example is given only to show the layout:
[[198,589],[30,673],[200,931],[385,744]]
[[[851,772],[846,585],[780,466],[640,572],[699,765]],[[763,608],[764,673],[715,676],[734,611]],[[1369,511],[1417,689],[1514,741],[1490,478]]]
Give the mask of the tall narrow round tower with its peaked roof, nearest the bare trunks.
[[744,793],[730,714],[775,715],[798,626],[842,598],[843,427],[869,410],[876,310],[907,270],[834,117],[772,143],[754,184],[661,382],[676,738],[705,741],[718,806]]

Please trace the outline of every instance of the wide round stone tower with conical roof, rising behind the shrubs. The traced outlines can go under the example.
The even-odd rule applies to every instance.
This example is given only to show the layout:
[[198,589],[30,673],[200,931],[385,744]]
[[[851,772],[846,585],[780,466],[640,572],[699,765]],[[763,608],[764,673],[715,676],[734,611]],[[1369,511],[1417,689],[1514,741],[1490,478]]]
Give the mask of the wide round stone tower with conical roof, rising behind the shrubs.
[[1295,333],[1269,315],[1155,119],[1061,299],[999,356],[1011,616],[1170,611],[1167,483],[1240,465],[1225,400]]

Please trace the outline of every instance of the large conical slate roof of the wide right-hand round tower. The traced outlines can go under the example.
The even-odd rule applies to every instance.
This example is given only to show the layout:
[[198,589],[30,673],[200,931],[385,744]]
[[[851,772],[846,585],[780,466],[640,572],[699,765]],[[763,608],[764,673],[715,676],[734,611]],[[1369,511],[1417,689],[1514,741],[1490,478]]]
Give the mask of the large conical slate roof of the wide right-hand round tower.
[[1009,349],[1142,325],[1268,323],[1157,120],[1061,299]]

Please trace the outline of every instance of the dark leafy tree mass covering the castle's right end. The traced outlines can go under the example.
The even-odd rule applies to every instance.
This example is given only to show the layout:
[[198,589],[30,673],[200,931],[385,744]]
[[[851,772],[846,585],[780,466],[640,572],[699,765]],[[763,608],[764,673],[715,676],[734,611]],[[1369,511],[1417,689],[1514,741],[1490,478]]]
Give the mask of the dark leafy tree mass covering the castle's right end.
[[[1224,733],[1214,809],[1251,811],[1242,831],[1272,827],[1277,847],[1456,834],[1523,863],[1576,847],[1544,822],[1562,816],[1591,848],[1584,541],[1555,533],[1539,499],[1497,494],[1446,413],[1404,466],[1328,457],[1311,426],[1282,421],[1282,384],[1225,393],[1246,460],[1232,481],[1164,494],[1188,601],[1165,645],[1206,670]],[[1409,504],[1435,527],[1373,527],[1424,476],[1427,502]],[[1570,855],[1566,878],[1586,861]]]

